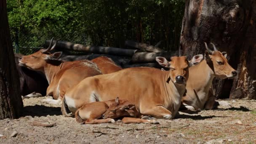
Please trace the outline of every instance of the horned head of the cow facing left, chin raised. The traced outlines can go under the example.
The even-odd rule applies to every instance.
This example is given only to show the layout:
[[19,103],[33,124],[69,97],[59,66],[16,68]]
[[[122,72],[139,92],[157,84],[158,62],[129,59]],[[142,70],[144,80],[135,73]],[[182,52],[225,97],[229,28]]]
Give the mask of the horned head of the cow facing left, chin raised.
[[[43,68],[47,63],[52,60],[57,60],[61,56],[62,52],[50,53],[57,44],[53,45],[53,38],[51,39],[51,43],[47,49],[41,49],[31,55],[22,56],[19,59],[19,66],[27,67],[32,70],[43,71]],[[53,45],[53,46],[52,46]]]

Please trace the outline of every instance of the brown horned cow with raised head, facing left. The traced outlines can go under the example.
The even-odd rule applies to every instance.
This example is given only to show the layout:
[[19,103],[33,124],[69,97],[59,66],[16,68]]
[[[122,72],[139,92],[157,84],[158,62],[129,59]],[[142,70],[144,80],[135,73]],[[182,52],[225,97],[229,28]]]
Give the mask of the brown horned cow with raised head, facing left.
[[[50,53],[57,44],[53,44],[53,39],[47,49],[42,49],[31,55],[23,56],[19,60],[19,65],[27,67],[28,69],[43,72],[48,80],[49,86],[46,94],[53,96],[55,99],[43,99],[43,101],[51,104],[60,104],[66,91],[73,85],[77,85],[81,80],[86,77],[94,75],[101,75],[101,69],[107,69],[108,67],[121,69],[111,59],[105,59],[109,61],[107,63],[100,64],[101,69],[97,67],[95,63],[101,63],[101,61],[94,60],[95,63],[88,60],[80,61],[58,61],[62,52]],[[113,72],[115,70],[109,70],[106,72]]]

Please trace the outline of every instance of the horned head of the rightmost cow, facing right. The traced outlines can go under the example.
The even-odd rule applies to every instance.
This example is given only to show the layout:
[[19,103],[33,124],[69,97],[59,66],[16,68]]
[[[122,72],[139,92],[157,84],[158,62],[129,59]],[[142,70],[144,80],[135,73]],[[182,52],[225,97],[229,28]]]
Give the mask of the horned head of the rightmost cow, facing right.
[[215,73],[216,77],[219,78],[234,78],[237,75],[237,72],[235,71],[235,69],[233,69],[228,61],[227,61],[227,53],[226,52],[220,52],[217,50],[217,48],[215,47],[215,45],[213,43],[211,43],[213,45],[214,51],[211,51],[207,44],[205,43],[205,60],[207,61],[207,63],[209,64],[209,66],[211,67],[212,65],[212,69],[213,72]]

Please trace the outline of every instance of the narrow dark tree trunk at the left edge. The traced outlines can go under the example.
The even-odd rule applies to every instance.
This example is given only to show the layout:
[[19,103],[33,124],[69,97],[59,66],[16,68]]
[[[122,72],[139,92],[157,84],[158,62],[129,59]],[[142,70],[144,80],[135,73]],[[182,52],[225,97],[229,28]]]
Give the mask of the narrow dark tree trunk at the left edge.
[[18,118],[23,107],[6,11],[0,1],[0,119]]

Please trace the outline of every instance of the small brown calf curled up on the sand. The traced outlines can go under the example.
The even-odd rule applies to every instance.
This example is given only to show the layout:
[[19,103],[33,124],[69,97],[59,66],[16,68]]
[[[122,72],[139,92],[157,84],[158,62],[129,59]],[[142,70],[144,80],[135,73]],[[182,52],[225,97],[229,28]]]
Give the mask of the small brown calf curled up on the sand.
[[140,119],[143,115],[136,109],[135,104],[119,100],[118,97],[109,101],[96,101],[85,104],[75,112],[77,122],[85,124],[114,123],[114,118],[118,117],[123,117],[123,123],[159,124],[155,120]]

